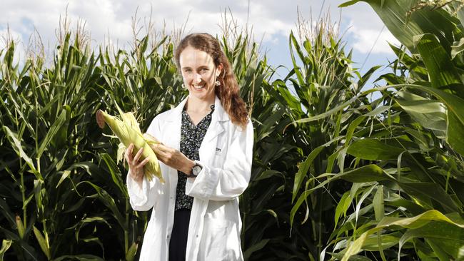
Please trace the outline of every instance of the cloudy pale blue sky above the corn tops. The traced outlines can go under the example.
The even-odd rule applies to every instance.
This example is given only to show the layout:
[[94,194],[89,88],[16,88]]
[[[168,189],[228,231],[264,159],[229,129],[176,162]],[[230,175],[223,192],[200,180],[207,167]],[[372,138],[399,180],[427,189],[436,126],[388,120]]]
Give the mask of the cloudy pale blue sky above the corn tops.
[[[0,36],[9,29],[19,42],[19,59],[24,57],[31,34],[37,31],[44,45],[53,48],[60,17],[71,20],[71,29],[85,23],[91,32],[92,46],[111,41],[120,48],[131,46],[132,19],[137,12],[141,24],[151,19],[157,30],[179,29],[185,24],[187,33],[208,32],[221,34],[224,12],[236,20],[238,26],[253,28],[255,39],[261,42],[268,61],[274,65],[290,66],[288,35],[296,30],[297,10],[302,19],[317,19],[319,14],[330,14],[333,21],[340,20],[340,31],[346,50],[353,50],[354,67],[367,71],[375,65],[393,61],[394,54],[388,42],[398,41],[384,28],[373,9],[359,2],[343,9],[346,0],[1,0]],[[312,14],[312,15],[311,15]],[[187,20],[188,17],[188,20]],[[4,41],[0,41],[0,48]],[[380,69],[374,76],[388,72]]]

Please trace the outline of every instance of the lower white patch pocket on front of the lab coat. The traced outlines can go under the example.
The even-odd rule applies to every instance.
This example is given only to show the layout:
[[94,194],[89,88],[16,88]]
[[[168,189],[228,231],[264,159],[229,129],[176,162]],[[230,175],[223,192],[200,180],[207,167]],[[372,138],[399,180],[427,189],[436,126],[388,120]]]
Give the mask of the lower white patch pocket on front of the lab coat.
[[229,220],[205,218],[199,260],[231,260],[227,246],[232,228]]

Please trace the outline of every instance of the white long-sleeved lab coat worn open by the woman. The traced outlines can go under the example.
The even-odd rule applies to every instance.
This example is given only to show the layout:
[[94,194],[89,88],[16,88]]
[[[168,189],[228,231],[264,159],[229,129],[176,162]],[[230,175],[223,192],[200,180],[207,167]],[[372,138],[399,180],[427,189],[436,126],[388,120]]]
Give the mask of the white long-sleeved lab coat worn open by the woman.
[[[181,112],[187,101],[156,116],[147,133],[171,148],[180,148]],[[238,196],[248,186],[251,175],[253,126],[235,126],[221,101],[216,97],[211,125],[199,149],[203,169],[196,178],[188,178],[186,194],[193,197],[188,225],[188,261],[243,260],[241,218]],[[169,239],[173,227],[176,201],[177,170],[160,162],[166,183],[157,178],[142,188],[127,175],[128,194],[133,210],[150,210],[140,260],[168,260]]]

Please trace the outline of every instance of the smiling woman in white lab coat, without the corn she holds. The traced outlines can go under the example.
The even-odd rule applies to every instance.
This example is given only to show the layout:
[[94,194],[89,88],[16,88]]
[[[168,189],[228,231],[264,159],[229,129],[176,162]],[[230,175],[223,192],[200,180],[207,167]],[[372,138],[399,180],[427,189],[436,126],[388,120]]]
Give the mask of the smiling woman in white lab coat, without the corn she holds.
[[141,150],[129,165],[134,210],[152,210],[140,260],[243,260],[238,196],[251,174],[253,126],[218,41],[191,34],[176,63],[188,97],[156,116],[147,133],[166,183],[143,177]]

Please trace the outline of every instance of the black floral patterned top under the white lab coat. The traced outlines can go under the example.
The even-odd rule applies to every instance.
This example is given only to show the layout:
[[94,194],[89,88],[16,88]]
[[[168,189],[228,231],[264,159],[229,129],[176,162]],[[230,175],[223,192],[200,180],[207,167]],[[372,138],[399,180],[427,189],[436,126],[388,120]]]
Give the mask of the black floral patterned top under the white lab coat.
[[[181,153],[186,155],[191,160],[200,160],[198,150],[201,142],[205,138],[206,131],[211,123],[211,114],[213,114],[214,105],[211,105],[211,112],[208,113],[196,126],[193,125],[190,116],[186,109],[182,111],[182,126],[181,126]],[[187,176],[180,170],[177,170],[178,180],[176,189],[176,208],[192,209],[193,197],[186,195]]]

